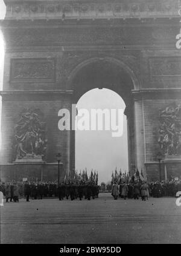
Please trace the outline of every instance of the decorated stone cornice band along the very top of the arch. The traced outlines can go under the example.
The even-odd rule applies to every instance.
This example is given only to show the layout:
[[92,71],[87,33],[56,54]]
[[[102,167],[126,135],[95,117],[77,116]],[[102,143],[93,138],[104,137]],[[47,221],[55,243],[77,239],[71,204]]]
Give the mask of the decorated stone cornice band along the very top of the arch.
[[179,17],[177,0],[4,0],[5,19],[96,19]]

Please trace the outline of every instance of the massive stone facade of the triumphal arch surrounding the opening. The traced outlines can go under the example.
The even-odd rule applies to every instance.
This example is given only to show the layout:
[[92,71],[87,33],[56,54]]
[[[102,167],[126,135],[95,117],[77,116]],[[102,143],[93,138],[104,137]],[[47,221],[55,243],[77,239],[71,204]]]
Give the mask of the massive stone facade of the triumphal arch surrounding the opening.
[[[62,177],[71,171],[75,134],[59,131],[58,111],[71,109],[86,91],[101,84],[125,101],[130,170],[142,168],[148,179],[157,179],[159,108],[181,102],[177,1],[6,0],[5,4],[1,177],[14,175],[14,124],[19,113],[31,107],[44,114],[48,151],[41,166],[19,169],[25,168],[30,176],[37,169],[39,179],[50,178],[51,170],[56,177],[56,154],[61,151]],[[167,171],[179,176],[180,163],[171,166]],[[16,169],[16,176],[22,177],[22,170]]]

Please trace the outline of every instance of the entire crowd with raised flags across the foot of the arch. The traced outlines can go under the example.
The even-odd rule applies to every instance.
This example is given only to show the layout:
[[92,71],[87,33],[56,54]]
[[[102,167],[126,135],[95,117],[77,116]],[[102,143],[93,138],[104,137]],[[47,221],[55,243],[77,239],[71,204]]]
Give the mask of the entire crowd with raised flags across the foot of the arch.
[[[73,173],[73,175],[72,175]],[[162,180],[146,182],[142,172],[138,170],[133,176],[130,174],[112,174],[112,195],[116,200],[139,199],[147,200],[148,197],[175,197],[181,191],[181,180]],[[46,197],[59,197],[59,200],[90,200],[98,197],[98,173],[87,176],[87,172],[65,176],[62,182],[1,182],[0,191],[4,194],[6,202],[19,202],[19,197],[25,197],[27,202]],[[107,191],[110,192],[110,191]]]

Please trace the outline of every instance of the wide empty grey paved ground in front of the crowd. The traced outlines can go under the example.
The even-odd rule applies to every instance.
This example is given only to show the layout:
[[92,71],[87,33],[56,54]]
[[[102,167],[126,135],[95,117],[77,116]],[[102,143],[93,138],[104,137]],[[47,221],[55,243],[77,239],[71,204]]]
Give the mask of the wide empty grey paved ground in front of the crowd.
[[1,243],[181,243],[176,199],[21,199],[1,206]]

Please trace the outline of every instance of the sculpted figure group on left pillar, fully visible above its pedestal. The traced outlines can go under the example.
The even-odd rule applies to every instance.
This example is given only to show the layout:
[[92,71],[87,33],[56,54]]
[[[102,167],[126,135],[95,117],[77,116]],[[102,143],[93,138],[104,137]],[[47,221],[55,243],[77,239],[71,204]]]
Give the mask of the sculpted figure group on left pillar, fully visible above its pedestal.
[[45,122],[41,122],[39,115],[34,111],[22,113],[21,119],[16,123],[16,158],[30,154],[44,156],[48,140],[45,138]]

